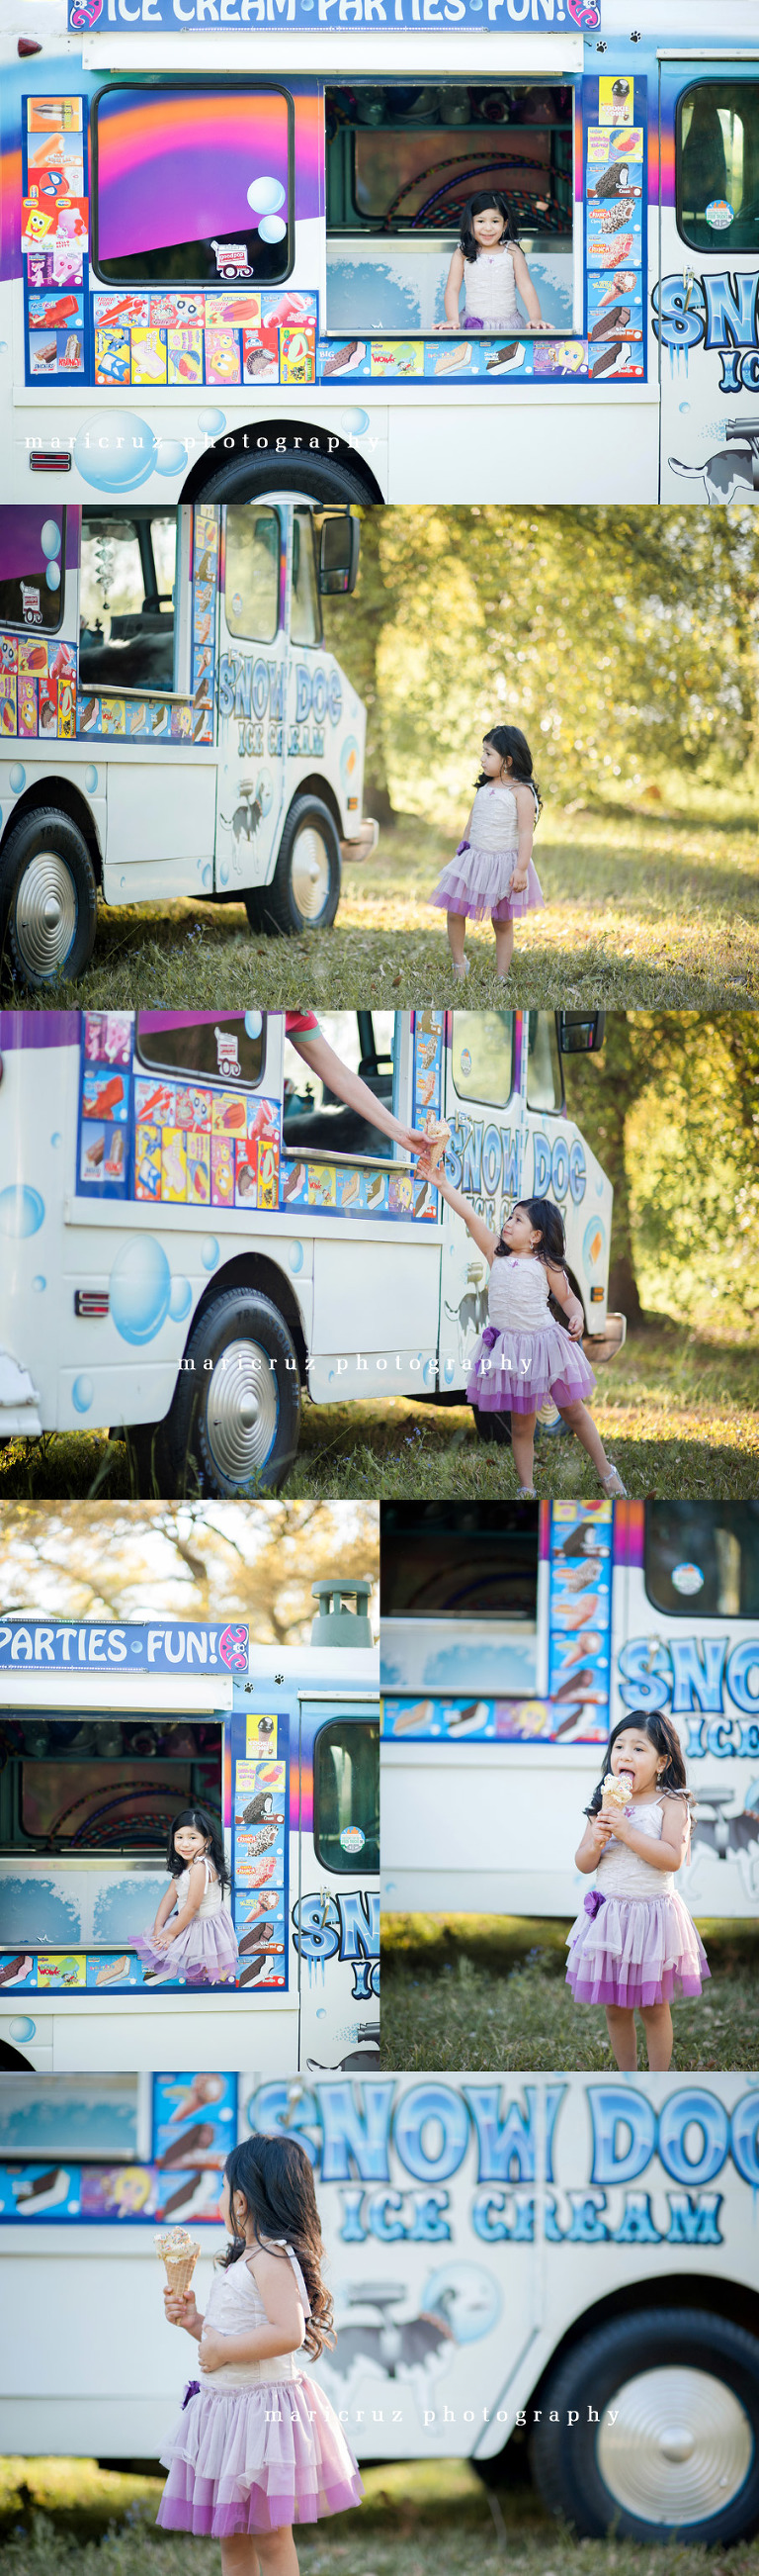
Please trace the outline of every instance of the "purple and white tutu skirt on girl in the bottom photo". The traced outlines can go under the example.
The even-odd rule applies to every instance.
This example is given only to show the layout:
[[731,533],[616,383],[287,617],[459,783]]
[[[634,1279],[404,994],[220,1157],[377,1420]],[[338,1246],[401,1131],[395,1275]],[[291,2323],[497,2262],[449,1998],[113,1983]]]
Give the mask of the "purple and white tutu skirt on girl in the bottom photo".
[[311,2378],[190,2388],[162,2452],[165,2532],[229,2540],[360,2504],[350,2442]]

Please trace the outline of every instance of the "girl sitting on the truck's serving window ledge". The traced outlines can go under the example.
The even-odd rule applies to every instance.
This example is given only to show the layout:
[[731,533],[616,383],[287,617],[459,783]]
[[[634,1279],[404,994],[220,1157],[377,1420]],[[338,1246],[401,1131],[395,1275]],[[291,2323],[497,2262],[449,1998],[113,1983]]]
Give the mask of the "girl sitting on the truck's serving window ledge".
[[188,1986],[226,1986],[237,1971],[237,1935],[224,1904],[226,1860],[219,1824],[203,1806],[185,1806],[170,1826],[170,1886],[160,1901],[152,1932],[134,1947],[154,1984],[185,1978]]

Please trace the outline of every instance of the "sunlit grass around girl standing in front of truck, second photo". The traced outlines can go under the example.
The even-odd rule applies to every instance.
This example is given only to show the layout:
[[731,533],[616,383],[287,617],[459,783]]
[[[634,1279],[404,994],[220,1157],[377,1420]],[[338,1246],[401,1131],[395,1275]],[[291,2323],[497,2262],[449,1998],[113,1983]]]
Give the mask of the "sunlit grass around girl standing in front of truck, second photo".
[[[651,791],[648,791],[651,793]],[[672,791],[666,791],[672,793]],[[654,791],[641,809],[551,806],[538,832],[545,912],[517,930],[515,1002],[736,1010],[759,992],[759,824],[738,796]],[[453,1002],[443,914],[427,896],[450,835],[407,817],[368,866],[347,866],[334,930],[304,940],[252,935],[242,904],[100,909],[95,958],[57,999],[198,1010]],[[468,1002],[502,999],[489,925],[468,933]],[[46,997],[49,999],[49,997]]]

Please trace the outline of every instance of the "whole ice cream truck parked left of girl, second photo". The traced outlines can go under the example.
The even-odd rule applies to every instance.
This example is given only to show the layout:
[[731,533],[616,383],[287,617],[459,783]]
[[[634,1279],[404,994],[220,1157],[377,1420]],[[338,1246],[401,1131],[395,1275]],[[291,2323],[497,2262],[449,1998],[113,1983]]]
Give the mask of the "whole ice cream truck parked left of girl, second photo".
[[324,930],[365,858],[365,708],[324,647],[358,518],[0,505],[0,956],[77,979],[105,904]]

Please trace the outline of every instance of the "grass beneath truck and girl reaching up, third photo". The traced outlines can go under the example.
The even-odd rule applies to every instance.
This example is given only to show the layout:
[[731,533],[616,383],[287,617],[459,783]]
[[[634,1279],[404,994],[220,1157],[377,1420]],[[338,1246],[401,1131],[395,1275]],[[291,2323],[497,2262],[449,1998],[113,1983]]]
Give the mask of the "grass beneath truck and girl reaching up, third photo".
[[[697,1337],[654,1316],[610,1368],[599,1370],[594,1419],[630,1494],[754,1497],[759,1486],[759,1352],[744,1342]],[[538,1445],[538,1492],[594,1494],[594,1471],[576,1440]],[[0,1499],[85,1499],[136,1494],[123,1443],[105,1432],[8,1440],[0,1448]],[[479,1440],[468,1404],[412,1399],[386,1404],[304,1404],[291,1497],[324,1502],[358,1494],[486,1497],[517,1492],[509,1448]]]

